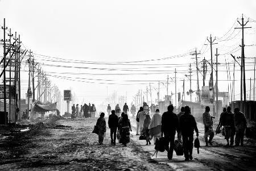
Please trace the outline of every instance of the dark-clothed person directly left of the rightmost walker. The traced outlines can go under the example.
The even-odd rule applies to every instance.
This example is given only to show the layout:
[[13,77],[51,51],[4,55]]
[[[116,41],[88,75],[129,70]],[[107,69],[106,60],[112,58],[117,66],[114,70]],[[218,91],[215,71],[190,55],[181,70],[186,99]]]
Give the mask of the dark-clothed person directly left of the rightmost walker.
[[230,145],[232,146],[234,144],[234,114],[231,112],[231,107],[228,107],[228,112],[226,111],[226,108],[224,107],[223,112],[221,113],[220,117],[220,127],[224,126],[224,135],[225,139],[227,141],[226,146],[229,146],[229,137],[230,137]]

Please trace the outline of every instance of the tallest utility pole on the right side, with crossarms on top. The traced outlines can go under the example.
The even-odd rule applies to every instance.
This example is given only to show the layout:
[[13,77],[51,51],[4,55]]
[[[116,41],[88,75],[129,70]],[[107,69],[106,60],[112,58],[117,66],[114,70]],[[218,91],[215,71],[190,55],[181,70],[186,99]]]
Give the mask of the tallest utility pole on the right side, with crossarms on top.
[[[244,36],[243,36],[243,29],[244,28],[251,28],[251,27],[245,27],[245,25],[249,22],[249,20],[247,20],[247,22],[244,24],[243,23],[243,14],[242,14],[242,24],[239,22],[239,21],[237,21],[239,24],[240,24],[240,26],[242,26],[242,68],[243,68],[243,113],[245,114],[245,112],[246,112],[246,84],[245,84],[245,44],[244,44]],[[237,29],[237,28],[241,28],[241,27],[236,27],[235,29]]]

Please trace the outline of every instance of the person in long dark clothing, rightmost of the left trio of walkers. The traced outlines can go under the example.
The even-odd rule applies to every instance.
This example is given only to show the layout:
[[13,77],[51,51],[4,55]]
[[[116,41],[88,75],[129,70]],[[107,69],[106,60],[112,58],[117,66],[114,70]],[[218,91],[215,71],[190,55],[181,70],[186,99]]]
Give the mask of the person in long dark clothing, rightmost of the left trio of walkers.
[[123,118],[120,123],[121,126],[121,139],[122,144],[126,147],[127,143],[130,143],[130,131],[131,131],[131,123],[128,119],[128,115],[123,115]]

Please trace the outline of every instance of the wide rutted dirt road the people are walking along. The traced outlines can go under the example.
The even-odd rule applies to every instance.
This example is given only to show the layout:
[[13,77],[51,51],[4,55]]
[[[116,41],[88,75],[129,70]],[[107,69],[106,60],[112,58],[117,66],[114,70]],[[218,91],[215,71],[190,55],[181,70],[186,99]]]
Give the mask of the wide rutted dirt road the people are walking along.
[[[245,139],[245,147],[226,148],[224,138],[215,136],[212,147],[205,147],[203,126],[199,123],[200,154],[193,151],[193,160],[183,156],[167,159],[166,152],[151,157],[154,145],[135,136],[135,119],[128,147],[110,145],[107,129],[103,145],[97,145],[92,134],[97,118],[64,119],[56,127],[42,127],[41,133],[6,142],[0,137],[0,170],[255,170],[255,140]],[[106,118],[108,121],[108,118]],[[15,143],[16,142],[16,143]],[[153,143],[152,143],[153,144]]]

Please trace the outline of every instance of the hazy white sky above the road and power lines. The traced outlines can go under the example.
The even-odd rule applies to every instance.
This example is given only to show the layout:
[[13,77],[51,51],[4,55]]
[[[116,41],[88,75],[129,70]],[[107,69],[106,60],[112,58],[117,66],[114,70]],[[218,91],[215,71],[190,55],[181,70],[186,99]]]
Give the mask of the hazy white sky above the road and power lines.
[[[21,35],[24,46],[34,52],[35,60],[42,64],[42,68],[45,72],[48,72],[52,82],[59,87],[61,92],[72,87],[72,90],[79,98],[79,103],[83,99],[86,102],[101,103],[104,101],[108,89],[108,94],[114,90],[117,90],[118,95],[126,95],[127,92],[127,102],[130,104],[131,99],[139,89],[145,91],[146,86],[149,89],[149,82],[152,84],[152,98],[155,99],[155,89],[158,88],[158,82],[156,81],[158,80],[165,84],[160,85],[160,98],[162,98],[167,92],[167,74],[171,78],[174,77],[175,68],[177,70],[177,91],[182,91],[182,80],[185,78],[185,74],[189,74],[188,65],[190,62],[193,71],[192,90],[196,90],[195,59],[191,59],[195,56],[189,55],[189,52],[197,48],[198,51],[201,50],[199,61],[203,57],[209,60],[209,45],[204,44],[208,43],[205,40],[210,34],[218,38],[214,41],[214,43],[218,44],[213,45],[213,55],[216,53],[216,48],[219,48],[218,53],[220,53],[220,56],[218,62],[221,62],[218,68],[220,70],[218,73],[219,79],[226,80],[225,59],[227,62],[233,62],[229,52],[234,52],[233,54],[236,56],[241,55],[238,45],[241,44],[242,32],[234,30],[234,27],[237,26],[236,19],[241,18],[242,14],[245,14],[245,20],[251,18],[251,22],[247,23],[246,26],[253,27],[245,30],[245,44],[256,44],[256,22],[253,22],[256,19],[256,1],[254,0],[246,2],[242,0],[0,1],[0,25],[3,26],[3,18],[6,18],[6,26]],[[228,34],[226,34],[227,32]],[[2,33],[1,30],[1,39]],[[67,59],[69,62],[59,62],[58,59],[44,58],[36,54]],[[187,54],[187,56],[172,57],[168,60],[126,63],[155,65],[74,63],[74,60],[82,60],[112,62],[113,64],[113,62],[118,61],[145,61],[182,54]],[[245,55],[249,57],[246,62],[253,62],[254,59],[250,59],[250,57],[256,57],[256,46],[246,47]],[[56,67],[55,65],[59,66]],[[250,65],[246,66],[246,69],[248,69],[246,78],[253,78],[254,65],[251,63],[246,65]],[[82,68],[64,68],[63,66],[79,66]],[[23,69],[27,70],[27,66]],[[230,65],[231,69],[233,69],[233,65]],[[236,69],[239,70],[240,68],[237,67]],[[143,71],[136,72],[133,70]],[[162,74],[159,74],[161,72]],[[95,73],[98,75],[88,75]],[[108,75],[109,73],[129,75]],[[209,74],[210,72],[208,72],[207,76],[207,85]],[[239,71],[235,75],[237,80],[240,79]],[[82,81],[94,83],[63,80],[56,78],[56,76],[66,77],[65,79],[71,80],[81,80],[78,78],[83,78]],[[199,76],[201,89],[203,82],[201,81],[201,74]],[[98,80],[84,80],[84,78]],[[23,91],[25,91],[27,89],[27,73],[23,74],[22,80]],[[129,82],[130,80],[144,81]],[[216,80],[215,77],[214,80]],[[106,82],[110,84],[99,84]],[[236,82],[235,94],[240,93],[239,83],[239,81]],[[247,90],[249,90],[250,81],[246,81],[246,83]],[[219,81],[219,89],[220,91],[228,91],[228,82]],[[188,90],[189,81],[188,78],[185,78],[185,91]],[[173,93],[175,91],[173,82],[169,85],[169,94],[171,94],[171,91]],[[239,98],[239,95],[236,97]],[[189,99],[189,97],[186,98]],[[193,96],[194,99],[195,97]]]

